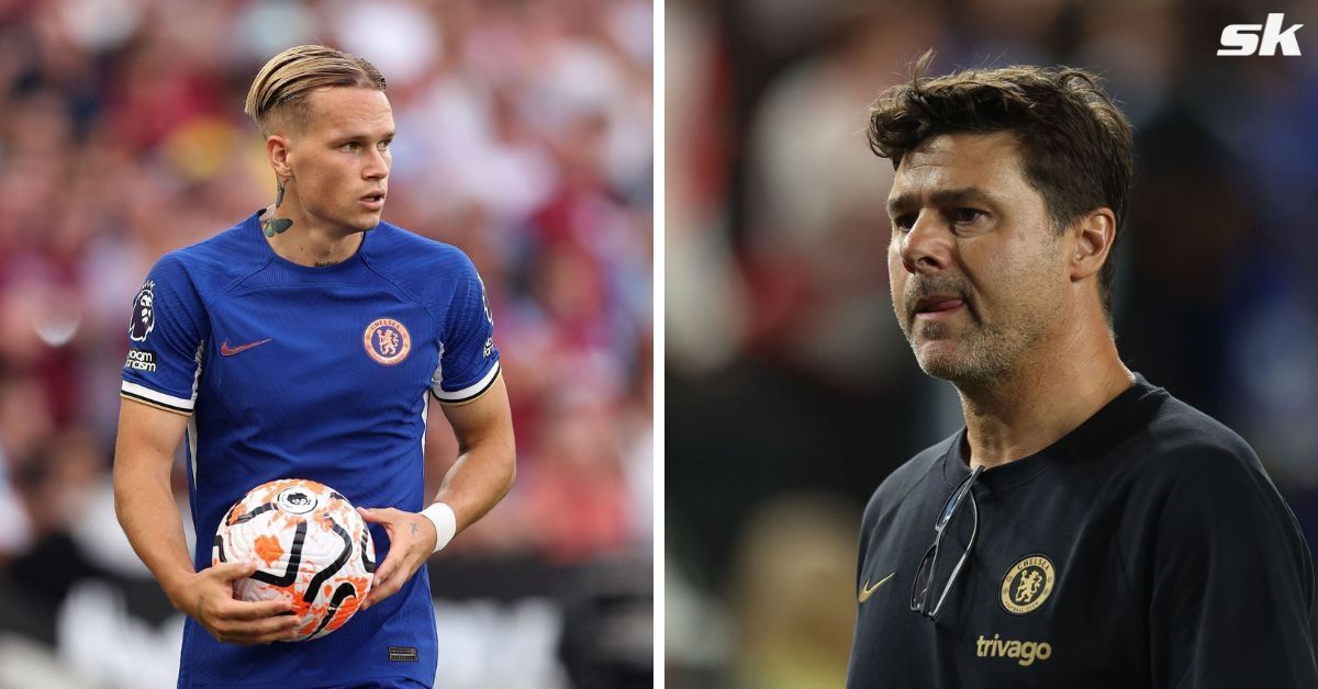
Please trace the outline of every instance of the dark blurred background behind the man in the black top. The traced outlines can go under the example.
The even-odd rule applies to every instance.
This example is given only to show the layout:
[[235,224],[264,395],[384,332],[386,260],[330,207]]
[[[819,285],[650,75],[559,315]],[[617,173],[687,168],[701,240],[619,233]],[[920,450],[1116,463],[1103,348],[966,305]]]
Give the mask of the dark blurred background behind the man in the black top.
[[[1235,0],[670,0],[666,672],[841,686],[865,501],[962,424],[892,316],[866,107],[933,70],[1098,71],[1136,129],[1118,244],[1128,365],[1257,451],[1318,545],[1318,43],[1218,58]],[[1307,29],[1305,29],[1307,30]]]

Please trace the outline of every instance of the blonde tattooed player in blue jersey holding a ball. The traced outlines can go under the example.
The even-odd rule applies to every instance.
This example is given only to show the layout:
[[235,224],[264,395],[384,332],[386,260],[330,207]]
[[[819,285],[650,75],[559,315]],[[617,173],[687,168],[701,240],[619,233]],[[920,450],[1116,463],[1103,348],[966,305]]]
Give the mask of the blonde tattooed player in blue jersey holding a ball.
[[[246,112],[265,137],[275,199],[162,257],[137,294],[115,452],[119,519],[188,615],[179,686],[430,686],[423,565],[515,473],[484,286],[460,250],[381,221],[394,120],[370,63],[324,46],[286,50],[257,75]],[[427,497],[431,397],[460,456]],[[169,483],[185,435],[191,557]],[[249,489],[289,477],[370,507],[380,565],[341,630],[272,644],[294,632],[289,607],[235,599],[231,582],[257,564],[210,566],[208,535]]]

